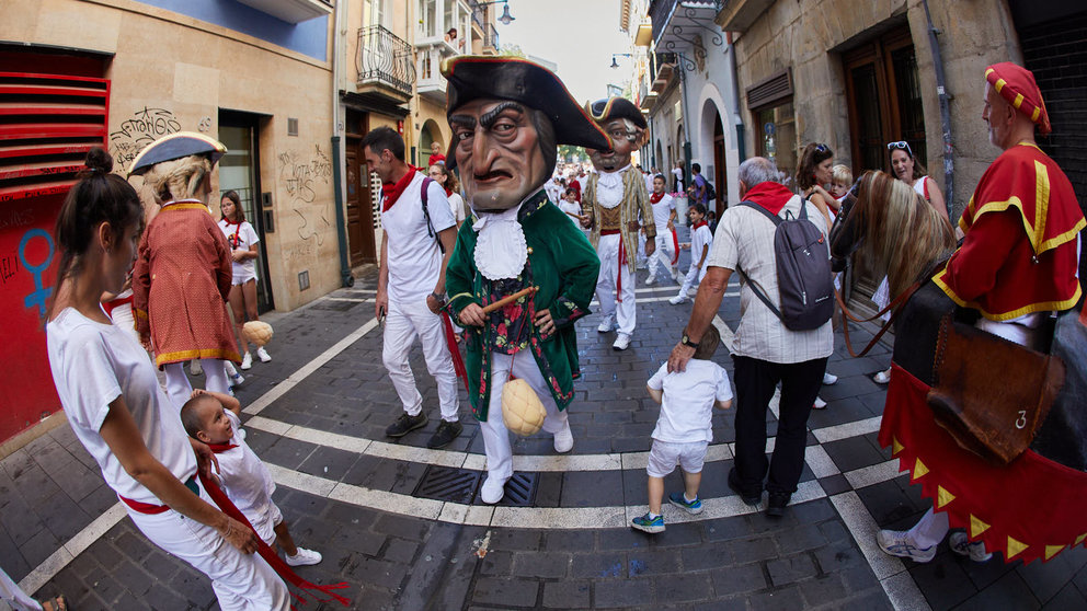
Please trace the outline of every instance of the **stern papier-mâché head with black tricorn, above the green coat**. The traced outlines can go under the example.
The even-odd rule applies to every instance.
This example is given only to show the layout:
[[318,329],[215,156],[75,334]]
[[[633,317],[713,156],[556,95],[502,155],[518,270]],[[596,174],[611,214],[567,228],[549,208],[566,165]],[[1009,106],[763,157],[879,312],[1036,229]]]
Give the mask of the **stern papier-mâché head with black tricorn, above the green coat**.
[[447,168],[460,169],[477,212],[513,208],[554,171],[557,147],[609,148],[607,136],[550,70],[516,57],[442,64],[453,128]]

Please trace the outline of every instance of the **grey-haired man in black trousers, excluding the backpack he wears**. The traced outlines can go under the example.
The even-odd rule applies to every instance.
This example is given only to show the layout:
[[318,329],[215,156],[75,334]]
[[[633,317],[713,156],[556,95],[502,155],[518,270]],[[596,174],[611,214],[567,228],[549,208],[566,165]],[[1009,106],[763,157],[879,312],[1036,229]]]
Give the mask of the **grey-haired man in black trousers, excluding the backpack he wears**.
[[[740,164],[740,194],[748,201],[785,218],[799,217],[808,206],[808,220],[825,235],[823,215],[777,182],[773,161],[756,157]],[[695,298],[694,311],[683,338],[668,357],[670,371],[683,371],[695,347],[717,314],[729,285],[740,266],[765,296],[780,309],[777,261],[774,252],[776,226],[759,210],[732,206],[721,215],[713,245],[706,262],[707,273]],[[736,461],[729,473],[729,487],[744,502],[762,499],[763,479],[769,493],[767,516],[780,517],[800,481],[804,466],[808,416],[819,394],[826,359],[834,350],[831,321],[811,331],[789,331],[781,320],[743,283],[740,292],[740,326],[732,341],[736,384]],[[774,458],[766,460],[766,410],[778,382],[778,433]]]

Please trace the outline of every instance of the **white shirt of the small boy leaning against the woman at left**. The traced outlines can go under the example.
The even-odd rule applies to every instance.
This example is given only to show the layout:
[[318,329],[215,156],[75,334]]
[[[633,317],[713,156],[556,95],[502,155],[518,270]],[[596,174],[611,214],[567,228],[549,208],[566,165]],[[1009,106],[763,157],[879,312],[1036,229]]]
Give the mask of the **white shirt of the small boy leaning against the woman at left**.
[[261,539],[274,540],[275,534],[272,529],[275,524],[268,518],[272,514],[275,481],[268,473],[268,468],[256,458],[249,443],[245,443],[245,439],[238,435],[241,420],[230,410],[224,412],[233,427],[229,442],[238,447],[215,454],[219,460],[218,475],[222,492],[227,493],[238,510],[253,524]]

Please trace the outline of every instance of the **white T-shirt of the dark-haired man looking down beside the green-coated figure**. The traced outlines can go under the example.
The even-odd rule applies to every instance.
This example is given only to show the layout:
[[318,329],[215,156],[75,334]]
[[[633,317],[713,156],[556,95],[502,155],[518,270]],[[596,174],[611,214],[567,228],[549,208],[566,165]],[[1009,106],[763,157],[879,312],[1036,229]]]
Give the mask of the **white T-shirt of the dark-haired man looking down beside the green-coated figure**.
[[[427,235],[423,217],[423,175],[416,174],[400,199],[381,212],[381,226],[389,237],[389,299],[423,301],[434,290],[442,273],[442,249],[437,235]],[[456,227],[445,189],[431,182],[426,209],[435,232]],[[382,204],[384,207],[384,204]]]

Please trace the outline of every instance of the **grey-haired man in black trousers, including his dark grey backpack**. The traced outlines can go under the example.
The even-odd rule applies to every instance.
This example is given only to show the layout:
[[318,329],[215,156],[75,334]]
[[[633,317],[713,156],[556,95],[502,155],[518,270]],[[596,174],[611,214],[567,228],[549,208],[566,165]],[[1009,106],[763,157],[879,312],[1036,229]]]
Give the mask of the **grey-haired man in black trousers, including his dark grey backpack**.
[[[769,493],[766,514],[783,515],[804,466],[808,416],[834,349],[826,233],[813,204],[777,182],[774,162],[740,164],[744,203],[721,215],[707,273],[683,336],[668,357],[683,371],[711,324],[733,270],[741,274],[740,325],[732,341],[736,387],[735,466],[729,487],[745,503]],[[777,220],[774,220],[777,219]],[[781,383],[774,457],[766,459],[766,410]],[[769,475],[767,477],[767,470]]]

